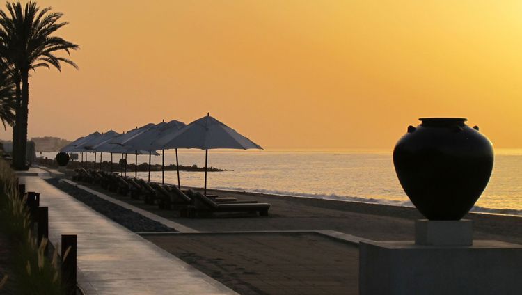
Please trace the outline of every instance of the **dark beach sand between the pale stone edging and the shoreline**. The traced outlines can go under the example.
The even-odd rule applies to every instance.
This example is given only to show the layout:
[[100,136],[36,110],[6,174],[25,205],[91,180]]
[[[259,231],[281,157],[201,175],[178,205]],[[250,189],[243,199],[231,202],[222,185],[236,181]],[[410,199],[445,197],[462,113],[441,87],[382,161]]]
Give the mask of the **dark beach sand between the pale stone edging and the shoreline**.
[[[226,214],[214,218],[180,218],[175,211],[158,209],[156,205],[146,205],[142,200],[110,193],[99,186],[88,186],[201,232],[337,230],[376,241],[413,240],[414,221],[422,218],[415,208],[408,207],[215,190],[209,192],[238,200],[269,202],[269,216]],[[522,244],[522,217],[470,213],[465,218],[473,220],[475,239]]]

